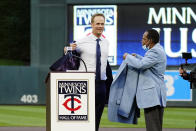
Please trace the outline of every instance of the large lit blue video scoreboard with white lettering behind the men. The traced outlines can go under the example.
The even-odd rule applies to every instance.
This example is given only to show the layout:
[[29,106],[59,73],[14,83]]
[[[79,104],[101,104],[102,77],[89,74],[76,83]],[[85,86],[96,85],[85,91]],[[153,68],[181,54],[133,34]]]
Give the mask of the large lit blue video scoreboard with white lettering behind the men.
[[151,28],[160,33],[168,66],[184,63],[183,52],[192,53],[193,59],[188,62],[196,63],[196,4],[77,5],[69,12],[73,15],[69,19],[70,42],[91,31],[90,17],[94,13],[106,16],[103,34],[110,42],[111,65],[120,65],[125,52],[144,55],[142,35]]

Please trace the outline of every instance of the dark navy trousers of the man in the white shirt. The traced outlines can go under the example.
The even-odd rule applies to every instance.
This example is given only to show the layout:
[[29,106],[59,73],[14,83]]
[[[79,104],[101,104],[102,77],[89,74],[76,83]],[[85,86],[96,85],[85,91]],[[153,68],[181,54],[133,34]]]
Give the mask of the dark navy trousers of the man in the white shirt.
[[104,110],[106,101],[106,85],[105,81],[95,81],[95,127],[99,130],[101,116]]

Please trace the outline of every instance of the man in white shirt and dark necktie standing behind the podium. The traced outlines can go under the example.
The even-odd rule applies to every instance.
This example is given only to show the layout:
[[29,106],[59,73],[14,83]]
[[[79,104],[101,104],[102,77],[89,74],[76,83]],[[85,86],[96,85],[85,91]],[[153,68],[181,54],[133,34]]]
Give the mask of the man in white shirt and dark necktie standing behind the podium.
[[[96,109],[96,131],[99,129],[101,115],[106,101],[106,67],[108,58],[109,42],[103,36],[105,16],[94,14],[91,18],[92,33],[83,39],[76,41],[70,46],[80,53],[86,63],[88,71],[96,72],[95,80],[95,109]],[[85,70],[80,63],[79,70]]]

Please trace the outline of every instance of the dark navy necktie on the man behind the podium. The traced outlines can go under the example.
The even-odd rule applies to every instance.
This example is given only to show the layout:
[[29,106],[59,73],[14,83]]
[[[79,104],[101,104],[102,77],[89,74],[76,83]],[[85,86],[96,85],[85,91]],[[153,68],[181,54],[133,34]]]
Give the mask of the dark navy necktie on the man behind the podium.
[[96,39],[96,80],[101,80],[101,49],[99,45],[100,39]]

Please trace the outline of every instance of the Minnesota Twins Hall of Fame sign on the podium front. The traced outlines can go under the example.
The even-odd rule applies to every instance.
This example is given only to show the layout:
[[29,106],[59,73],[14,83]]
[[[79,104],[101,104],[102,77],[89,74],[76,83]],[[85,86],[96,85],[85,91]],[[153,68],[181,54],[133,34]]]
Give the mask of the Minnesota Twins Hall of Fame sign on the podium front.
[[88,120],[88,81],[58,81],[59,120]]

